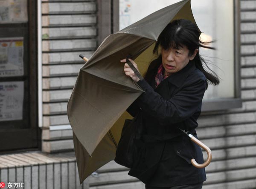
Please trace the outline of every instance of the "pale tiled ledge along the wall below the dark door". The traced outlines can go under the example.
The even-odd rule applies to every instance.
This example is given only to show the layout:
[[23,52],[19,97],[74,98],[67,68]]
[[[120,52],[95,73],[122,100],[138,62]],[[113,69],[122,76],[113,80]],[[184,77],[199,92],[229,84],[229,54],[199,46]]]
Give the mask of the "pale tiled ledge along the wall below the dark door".
[[0,162],[0,180],[6,186],[16,182],[26,189],[89,189],[87,180],[80,185],[74,152],[0,155]]

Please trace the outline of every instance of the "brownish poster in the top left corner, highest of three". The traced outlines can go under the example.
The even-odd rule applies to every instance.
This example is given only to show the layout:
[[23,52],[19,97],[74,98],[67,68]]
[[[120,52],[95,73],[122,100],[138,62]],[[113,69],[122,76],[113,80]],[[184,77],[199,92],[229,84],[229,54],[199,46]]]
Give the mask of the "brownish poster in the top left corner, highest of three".
[[27,21],[27,0],[0,0],[0,23]]

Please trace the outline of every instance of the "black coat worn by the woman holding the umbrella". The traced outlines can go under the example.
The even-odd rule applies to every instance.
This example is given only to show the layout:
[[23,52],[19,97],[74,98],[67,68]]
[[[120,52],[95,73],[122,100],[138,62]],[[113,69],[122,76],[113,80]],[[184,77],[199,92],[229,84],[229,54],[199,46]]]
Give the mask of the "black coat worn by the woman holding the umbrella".
[[[159,61],[157,66],[151,63],[148,68],[154,76],[158,65]],[[159,187],[206,180],[205,170],[195,168],[190,161],[195,158],[198,163],[204,162],[201,148],[177,129],[188,130],[196,136],[206,83],[206,77],[195,67],[194,61],[171,74],[156,89],[154,77],[148,82],[137,82],[144,92],[127,111],[132,116],[142,111],[144,145],[128,175],[148,186]]]

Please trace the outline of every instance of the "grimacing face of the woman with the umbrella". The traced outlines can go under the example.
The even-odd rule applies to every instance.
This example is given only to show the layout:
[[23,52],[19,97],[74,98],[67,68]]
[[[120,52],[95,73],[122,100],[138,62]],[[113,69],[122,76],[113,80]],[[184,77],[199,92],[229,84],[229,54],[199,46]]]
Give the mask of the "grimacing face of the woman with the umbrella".
[[172,47],[169,49],[162,48],[162,63],[165,69],[164,75],[179,72],[189,63],[189,60],[194,59],[197,52],[198,49],[195,49],[194,54],[189,56],[189,49],[186,46],[179,46],[178,49]]

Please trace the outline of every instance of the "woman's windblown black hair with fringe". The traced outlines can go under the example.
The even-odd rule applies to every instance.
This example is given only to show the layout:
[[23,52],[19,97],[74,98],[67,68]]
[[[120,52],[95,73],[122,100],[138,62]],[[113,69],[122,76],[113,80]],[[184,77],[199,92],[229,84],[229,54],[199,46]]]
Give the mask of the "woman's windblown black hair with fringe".
[[[195,49],[198,49],[198,52],[194,58],[195,66],[199,70],[201,70],[201,72],[203,72],[205,77],[207,78],[207,87],[206,87],[207,89],[208,82],[214,85],[218,85],[220,82],[218,79],[218,75],[208,67],[205,60],[199,54],[199,47],[204,47],[207,49],[215,49],[213,47],[207,46],[208,43],[211,43],[211,42],[203,42],[200,40],[200,32],[197,26],[194,23],[192,23],[190,20],[185,20],[185,19],[174,20],[173,22],[169,23],[159,35],[157,43],[155,44],[153,53],[158,54],[157,50],[159,45],[163,49],[169,49],[170,47],[177,49],[178,47],[183,47],[185,45],[189,49],[189,56],[191,56],[194,53]],[[157,60],[160,60],[161,59],[160,57],[161,57],[161,54],[157,58]],[[207,72],[204,69],[203,64],[213,74]]]

